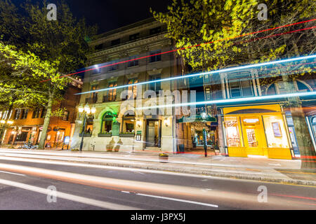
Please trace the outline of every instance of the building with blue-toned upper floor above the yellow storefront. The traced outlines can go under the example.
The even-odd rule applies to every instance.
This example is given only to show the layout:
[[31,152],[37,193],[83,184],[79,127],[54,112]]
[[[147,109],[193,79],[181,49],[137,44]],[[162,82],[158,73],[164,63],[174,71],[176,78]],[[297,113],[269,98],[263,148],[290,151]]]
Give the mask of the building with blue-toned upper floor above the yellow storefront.
[[[315,73],[292,81],[295,92],[315,90]],[[263,82],[256,69],[204,76],[206,100],[228,99],[216,104],[217,144],[223,155],[291,159],[300,156],[287,98],[254,100],[254,97],[285,94],[282,77]],[[252,99],[247,101],[247,98]],[[243,99],[242,101],[230,99]],[[315,146],[315,99],[300,97]],[[316,147],[315,147],[316,148]]]

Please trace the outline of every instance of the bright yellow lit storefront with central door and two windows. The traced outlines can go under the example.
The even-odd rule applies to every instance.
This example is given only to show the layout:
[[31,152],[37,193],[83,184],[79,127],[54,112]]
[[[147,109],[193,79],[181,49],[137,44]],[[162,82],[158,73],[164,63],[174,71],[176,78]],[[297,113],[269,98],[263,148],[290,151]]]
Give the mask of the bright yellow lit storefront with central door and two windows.
[[291,160],[289,132],[278,104],[223,109],[228,155]]

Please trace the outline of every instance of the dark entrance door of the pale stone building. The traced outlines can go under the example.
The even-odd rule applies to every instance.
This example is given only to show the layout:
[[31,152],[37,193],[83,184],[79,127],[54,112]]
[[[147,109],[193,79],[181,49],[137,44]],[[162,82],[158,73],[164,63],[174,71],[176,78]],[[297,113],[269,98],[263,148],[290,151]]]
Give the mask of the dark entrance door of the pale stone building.
[[147,120],[146,147],[160,147],[159,120]]

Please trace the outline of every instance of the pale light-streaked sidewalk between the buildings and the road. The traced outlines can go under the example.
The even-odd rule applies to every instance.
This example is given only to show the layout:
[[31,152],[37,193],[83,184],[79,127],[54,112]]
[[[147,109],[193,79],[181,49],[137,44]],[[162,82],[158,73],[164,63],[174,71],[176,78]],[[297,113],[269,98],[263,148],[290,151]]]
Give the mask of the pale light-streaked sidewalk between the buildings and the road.
[[[6,150],[9,151],[9,150]],[[0,151],[2,152],[2,151]],[[157,152],[72,152],[10,150],[11,153],[45,155],[49,160],[81,162],[91,165],[107,165],[166,172],[202,174],[207,176],[290,183],[316,186],[316,171],[302,172],[301,160],[273,160],[268,158],[232,158],[200,154],[169,154],[167,161],[159,160]],[[49,156],[53,157],[49,158]]]

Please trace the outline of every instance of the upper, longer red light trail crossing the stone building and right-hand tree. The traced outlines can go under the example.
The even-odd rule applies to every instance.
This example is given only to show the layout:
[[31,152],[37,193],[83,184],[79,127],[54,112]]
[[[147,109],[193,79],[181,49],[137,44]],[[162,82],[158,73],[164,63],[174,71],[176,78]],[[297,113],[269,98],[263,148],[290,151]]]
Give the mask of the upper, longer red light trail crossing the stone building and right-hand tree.
[[[86,71],[92,71],[92,70],[96,70],[96,69],[101,69],[101,68],[105,68],[107,66],[113,66],[113,65],[116,65],[116,64],[123,64],[123,63],[126,63],[126,62],[132,62],[132,61],[136,61],[136,60],[139,60],[139,59],[145,59],[145,58],[153,57],[153,56],[157,56],[157,55],[164,55],[164,54],[167,54],[167,53],[176,52],[178,50],[185,50],[185,49],[189,49],[189,48],[196,48],[196,47],[199,47],[199,46],[204,45],[204,44],[211,44],[211,43],[216,43],[216,42],[221,42],[221,41],[229,41],[229,40],[232,40],[232,39],[235,39],[235,38],[240,38],[240,37],[244,37],[244,36],[250,36],[250,35],[253,35],[253,34],[259,34],[259,33],[265,32],[265,31],[272,31],[272,30],[275,30],[275,29],[281,29],[283,27],[291,27],[291,26],[294,26],[294,25],[299,25],[299,24],[303,24],[303,23],[306,23],[306,22],[312,22],[312,21],[315,21],[315,20],[316,19],[305,20],[305,21],[302,21],[302,22],[295,22],[295,23],[292,23],[292,24],[289,24],[289,25],[283,25],[283,26],[274,27],[274,28],[270,28],[270,29],[263,29],[261,31],[255,31],[255,32],[247,33],[247,34],[242,34],[242,35],[239,35],[239,36],[233,36],[233,37],[230,37],[230,38],[223,38],[223,39],[220,39],[220,40],[217,40],[217,41],[211,41],[211,42],[207,42],[207,43],[200,43],[200,44],[192,45],[192,46],[185,47],[185,48],[178,48],[178,49],[175,49],[175,50],[169,50],[169,51],[166,51],[166,52],[160,52],[160,53],[157,53],[157,54],[154,54],[154,55],[146,55],[144,57],[138,57],[138,58],[134,58],[134,59],[129,59],[129,60],[126,60],[124,62],[116,62],[116,63],[113,63],[113,64],[107,64],[107,65],[104,65],[104,66],[98,66],[98,68],[86,69],[84,71],[78,71],[78,72],[75,72],[75,73],[70,73],[70,74],[65,75],[65,76],[60,76],[59,78],[64,78],[64,77],[67,77],[67,76],[73,76],[73,75],[76,75],[76,74],[79,74],[79,73],[84,73]],[[291,32],[294,32],[294,31],[291,31]],[[44,82],[49,81],[49,80],[51,80],[51,78],[47,79],[47,80],[42,80],[40,83],[44,83]]]

